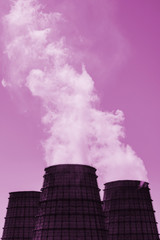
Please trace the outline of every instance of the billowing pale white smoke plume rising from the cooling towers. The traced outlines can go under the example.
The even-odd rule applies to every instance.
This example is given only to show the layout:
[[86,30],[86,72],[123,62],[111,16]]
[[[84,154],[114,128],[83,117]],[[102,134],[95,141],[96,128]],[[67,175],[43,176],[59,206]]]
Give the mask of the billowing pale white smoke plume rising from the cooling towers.
[[76,53],[60,32],[63,16],[44,13],[36,0],[17,0],[3,21],[8,75],[2,84],[17,92],[28,88],[41,99],[47,164],[92,165],[103,183],[146,181],[142,160],[122,141],[122,111],[98,110],[94,81],[83,64],[81,72],[73,66]]

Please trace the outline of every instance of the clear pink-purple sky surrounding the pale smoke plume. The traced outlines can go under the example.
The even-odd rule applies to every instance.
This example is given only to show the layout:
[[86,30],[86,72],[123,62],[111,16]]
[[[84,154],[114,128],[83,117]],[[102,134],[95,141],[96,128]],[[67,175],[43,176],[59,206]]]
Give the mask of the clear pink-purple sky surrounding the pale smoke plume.
[[[76,52],[74,67],[83,62],[100,98],[99,109],[125,116],[125,143],[140,157],[148,172],[156,219],[160,222],[160,1],[159,0],[41,0],[44,12],[60,12],[65,21],[60,36]],[[1,0],[0,14],[10,3]],[[1,24],[2,31],[2,24]],[[0,39],[3,46],[3,35]],[[1,55],[3,47],[1,47]],[[7,61],[0,60],[1,80]],[[71,60],[72,62],[72,60]],[[0,229],[8,193],[39,190],[42,186],[46,136],[42,105],[31,93],[18,94],[0,85]]]

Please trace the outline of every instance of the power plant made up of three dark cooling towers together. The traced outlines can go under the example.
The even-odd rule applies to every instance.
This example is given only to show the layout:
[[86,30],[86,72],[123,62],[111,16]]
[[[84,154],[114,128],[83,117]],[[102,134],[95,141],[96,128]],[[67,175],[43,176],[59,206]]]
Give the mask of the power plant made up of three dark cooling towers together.
[[108,182],[101,201],[95,168],[48,167],[41,192],[10,193],[2,240],[159,240],[149,190]]

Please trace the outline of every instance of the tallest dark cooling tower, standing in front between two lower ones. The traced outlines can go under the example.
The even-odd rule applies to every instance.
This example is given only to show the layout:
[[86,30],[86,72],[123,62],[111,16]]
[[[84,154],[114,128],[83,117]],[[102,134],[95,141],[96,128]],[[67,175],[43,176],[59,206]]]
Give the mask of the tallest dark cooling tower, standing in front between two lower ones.
[[33,239],[106,239],[95,168],[62,164],[45,171]]

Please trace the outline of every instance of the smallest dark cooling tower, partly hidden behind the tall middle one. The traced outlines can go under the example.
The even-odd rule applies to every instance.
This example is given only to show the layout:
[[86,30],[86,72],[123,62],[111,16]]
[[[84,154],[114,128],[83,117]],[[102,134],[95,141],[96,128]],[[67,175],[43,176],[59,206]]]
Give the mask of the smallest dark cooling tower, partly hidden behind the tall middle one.
[[40,192],[10,193],[2,240],[31,240]]

